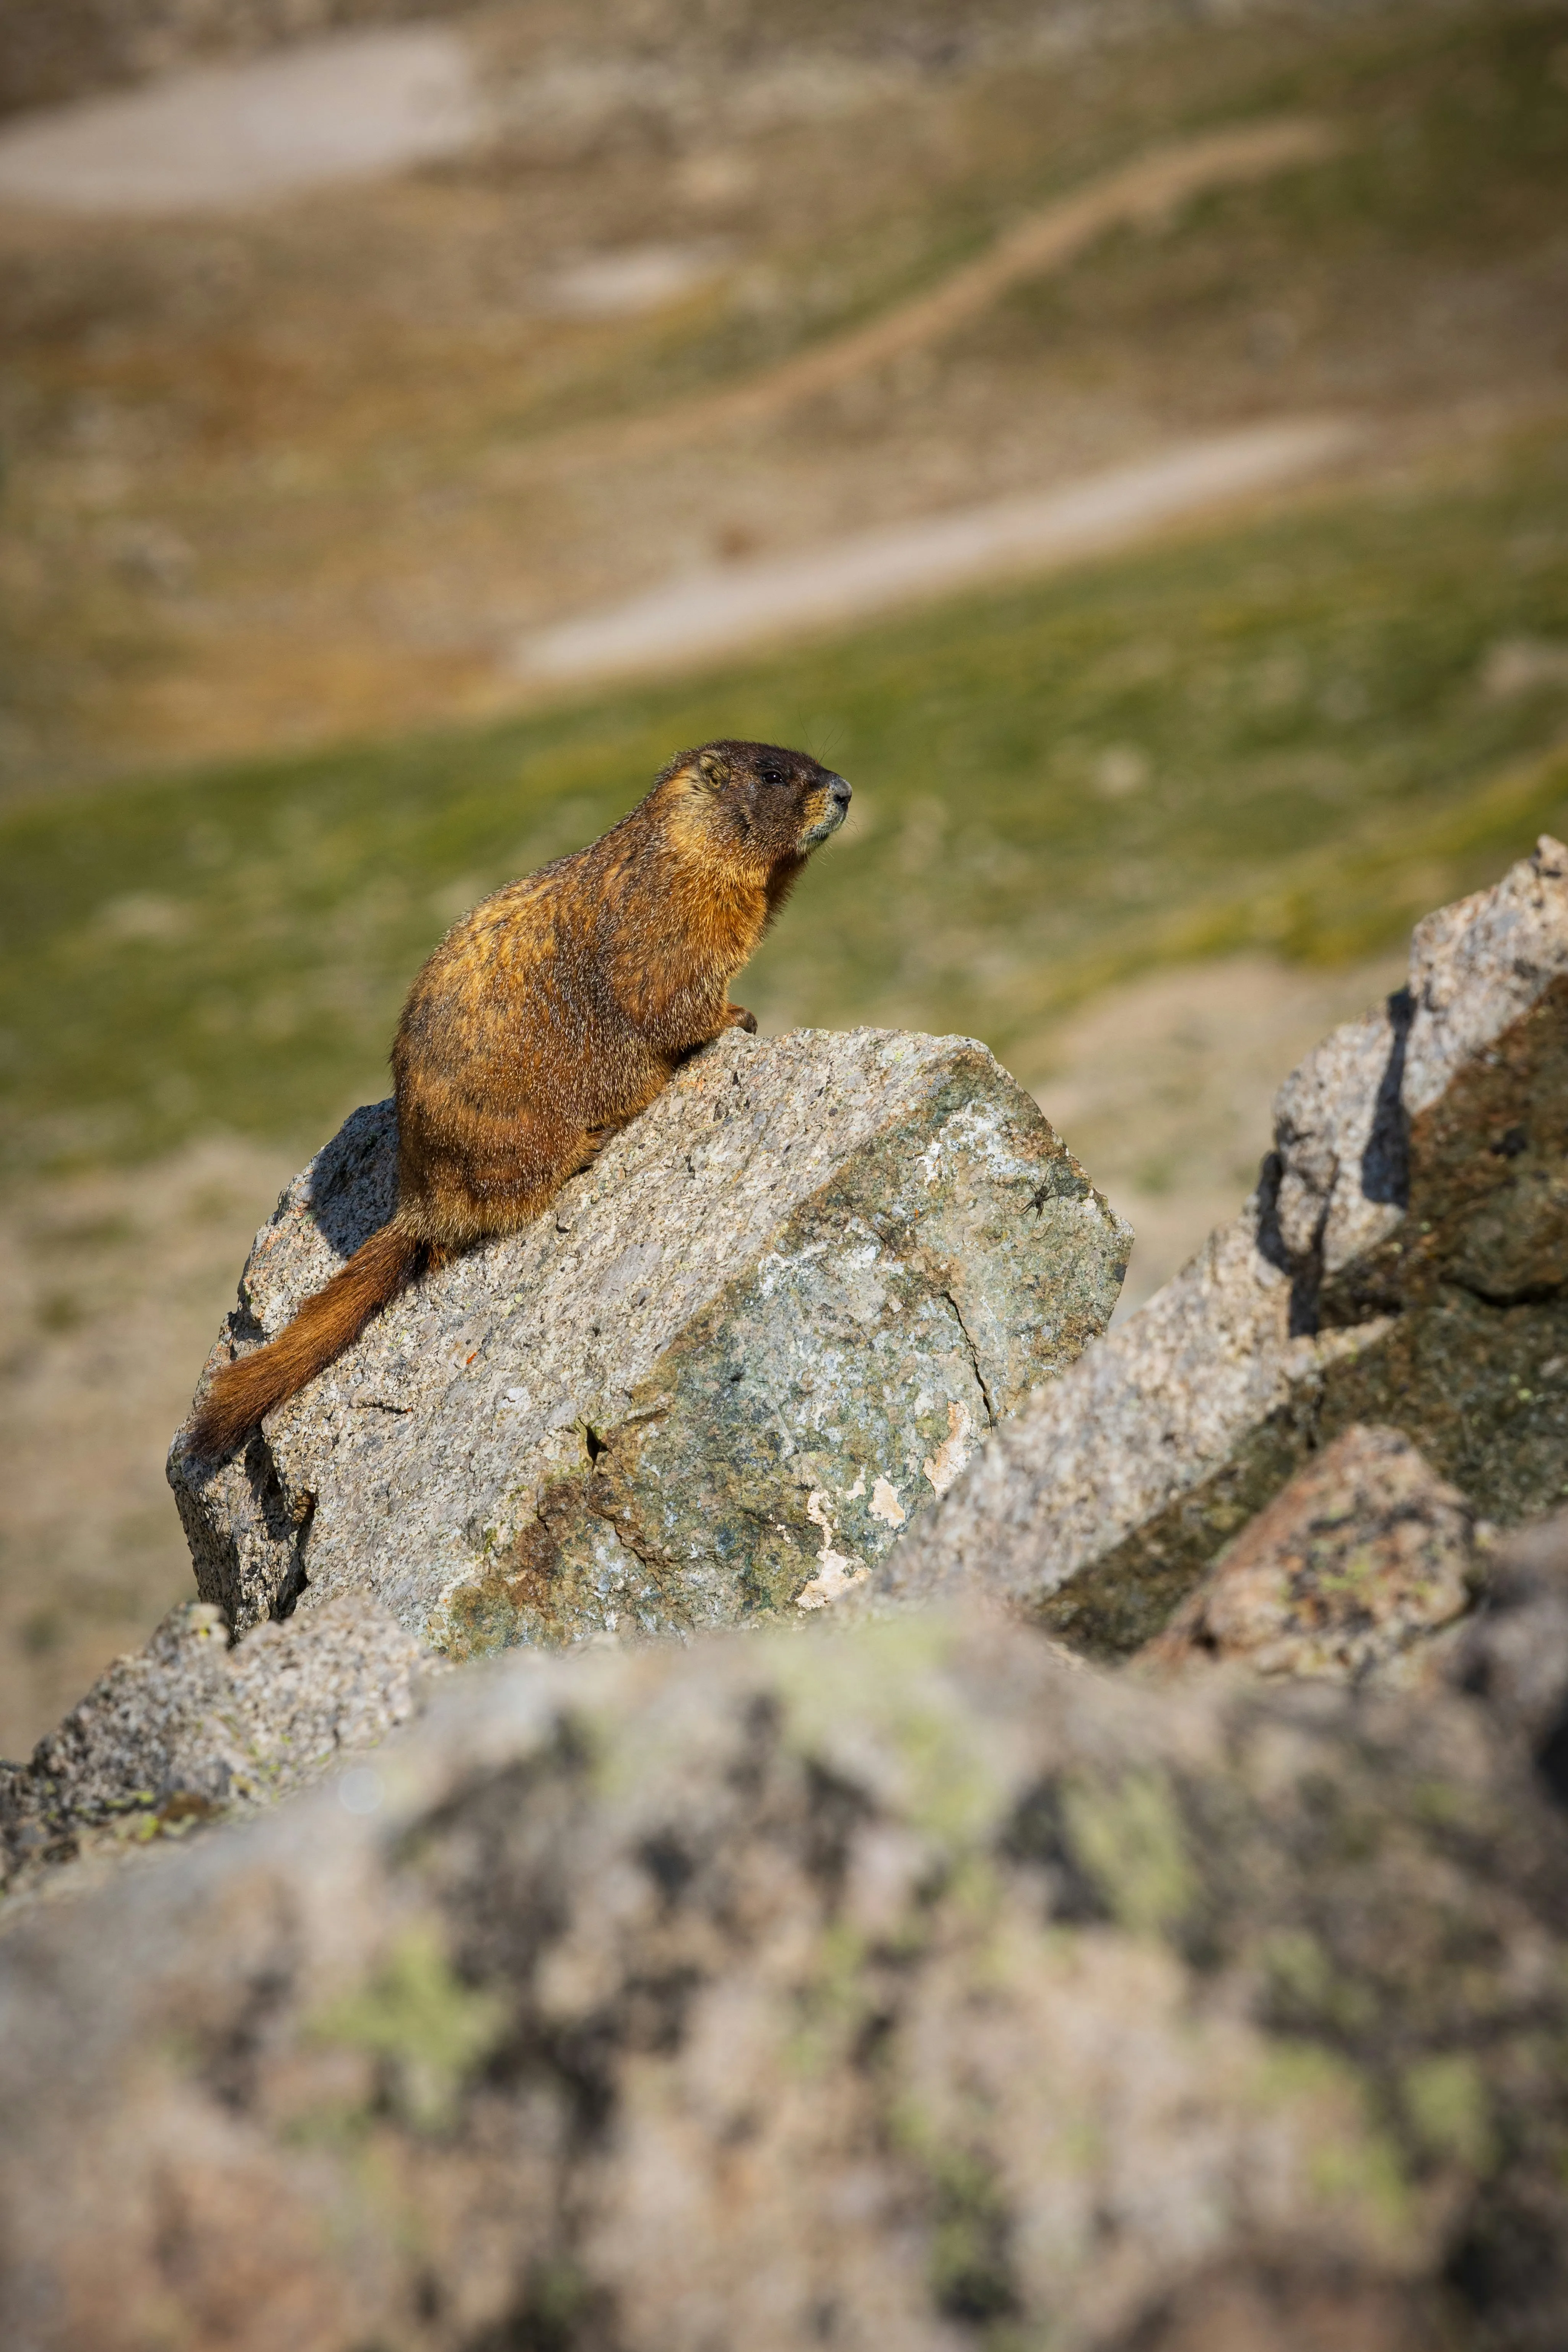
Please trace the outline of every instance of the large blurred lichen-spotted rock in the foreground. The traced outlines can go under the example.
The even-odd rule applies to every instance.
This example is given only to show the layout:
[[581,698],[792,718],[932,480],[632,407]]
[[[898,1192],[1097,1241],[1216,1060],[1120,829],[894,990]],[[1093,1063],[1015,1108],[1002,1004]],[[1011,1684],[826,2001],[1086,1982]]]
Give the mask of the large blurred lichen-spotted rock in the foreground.
[[1554,2352],[1566,1884],[1481,1700],[512,1653],[0,1940],[0,2340]]

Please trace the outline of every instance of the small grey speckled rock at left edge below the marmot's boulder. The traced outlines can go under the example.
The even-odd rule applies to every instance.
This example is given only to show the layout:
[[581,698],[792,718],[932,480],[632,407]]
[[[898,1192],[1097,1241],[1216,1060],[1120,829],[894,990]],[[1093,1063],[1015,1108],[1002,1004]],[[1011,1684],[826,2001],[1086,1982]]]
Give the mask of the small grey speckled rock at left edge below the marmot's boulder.
[[221,1613],[186,1602],[31,1764],[0,1766],[7,1891],[42,1865],[303,1788],[407,1724],[421,1689],[418,1644],[383,1609],[339,1602],[230,1649]]

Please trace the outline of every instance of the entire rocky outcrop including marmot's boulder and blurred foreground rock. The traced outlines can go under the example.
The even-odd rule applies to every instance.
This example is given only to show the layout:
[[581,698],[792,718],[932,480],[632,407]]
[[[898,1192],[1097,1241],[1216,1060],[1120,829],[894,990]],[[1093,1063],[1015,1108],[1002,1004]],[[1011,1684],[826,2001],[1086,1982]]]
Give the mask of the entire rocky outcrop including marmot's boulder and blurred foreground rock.
[[1114,1334],[980,1047],[729,1037],[176,1439],[209,1602],[0,1773],[7,2340],[1547,2352],[1566,990],[1542,837]]

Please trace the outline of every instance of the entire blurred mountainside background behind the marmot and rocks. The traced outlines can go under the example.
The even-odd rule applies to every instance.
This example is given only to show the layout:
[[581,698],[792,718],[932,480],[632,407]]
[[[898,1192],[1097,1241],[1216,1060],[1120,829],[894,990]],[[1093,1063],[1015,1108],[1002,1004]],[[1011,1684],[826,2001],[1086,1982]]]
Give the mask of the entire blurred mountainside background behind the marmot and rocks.
[[985,1037],[1131,1303],[1568,828],[1563,7],[0,0],[0,1752],[418,960],[672,750],[849,774],[738,995]]

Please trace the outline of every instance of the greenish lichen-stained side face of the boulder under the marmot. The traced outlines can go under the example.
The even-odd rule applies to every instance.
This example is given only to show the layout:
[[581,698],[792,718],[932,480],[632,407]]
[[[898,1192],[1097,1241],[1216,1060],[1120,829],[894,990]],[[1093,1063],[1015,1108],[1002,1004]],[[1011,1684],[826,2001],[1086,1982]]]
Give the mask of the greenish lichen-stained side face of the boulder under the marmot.
[[830,1606],[1105,1329],[1126,1225],[990,1054],[924,1051],[912,1108],[766,1235],[592,1444],[529,1458],[510,1531],[430,1628],[454,1658]]

